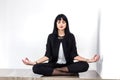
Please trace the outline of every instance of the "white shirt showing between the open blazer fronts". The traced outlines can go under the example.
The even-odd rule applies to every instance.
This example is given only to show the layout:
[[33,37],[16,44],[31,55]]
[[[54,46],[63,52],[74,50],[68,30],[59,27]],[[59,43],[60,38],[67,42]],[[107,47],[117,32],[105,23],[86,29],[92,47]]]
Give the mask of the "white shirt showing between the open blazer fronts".
[[66,63],[65,56],[64,56],[64,52],[63,52],[62,42],[60,42],[60,47],[59,47],[59,53],[58,53],[58,61],[57,61],[57,63],[59,63],[59,64],[65,64],[65,63]]

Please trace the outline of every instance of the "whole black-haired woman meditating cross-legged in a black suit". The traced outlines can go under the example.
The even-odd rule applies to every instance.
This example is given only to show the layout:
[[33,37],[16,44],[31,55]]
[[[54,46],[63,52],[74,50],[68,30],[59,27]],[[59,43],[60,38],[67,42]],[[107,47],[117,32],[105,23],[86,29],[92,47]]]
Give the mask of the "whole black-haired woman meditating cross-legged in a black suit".
[[[41,75],[72,75],[85,72],[88,63],[99,60],[99,55],[86,59],[78,55],[75,37],[69,31],[67,17],[59,14],[54,21],[53,33],[48,36],[45,56],[32,62],[28,58],[23,63],[33,66],[33,72]],[[74,62],[77,60],[77,62]],[[44,63],[48,61],[48,63]]]

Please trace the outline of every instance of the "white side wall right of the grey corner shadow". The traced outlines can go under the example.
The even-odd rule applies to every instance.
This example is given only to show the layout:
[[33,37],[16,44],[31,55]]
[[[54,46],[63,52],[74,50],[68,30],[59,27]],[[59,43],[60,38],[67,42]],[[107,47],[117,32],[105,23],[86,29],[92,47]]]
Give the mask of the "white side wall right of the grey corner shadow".
[[100,53],[101,76],[120,79],[120,1],[104,0],[101,6]]

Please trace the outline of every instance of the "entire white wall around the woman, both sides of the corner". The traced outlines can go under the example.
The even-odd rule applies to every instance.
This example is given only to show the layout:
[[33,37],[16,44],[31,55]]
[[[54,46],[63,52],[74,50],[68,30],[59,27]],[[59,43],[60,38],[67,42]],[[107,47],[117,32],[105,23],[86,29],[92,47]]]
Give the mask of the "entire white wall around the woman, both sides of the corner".
[[21,59],[34,61],[44,55],[54,19],[64,13],[79,54],[90,58],[100,51],[97,67],[91,64],[90,69],[97,69],[103,78],[120,78],[119,4],[119,0],[0,0],[0,68],[31,68]]

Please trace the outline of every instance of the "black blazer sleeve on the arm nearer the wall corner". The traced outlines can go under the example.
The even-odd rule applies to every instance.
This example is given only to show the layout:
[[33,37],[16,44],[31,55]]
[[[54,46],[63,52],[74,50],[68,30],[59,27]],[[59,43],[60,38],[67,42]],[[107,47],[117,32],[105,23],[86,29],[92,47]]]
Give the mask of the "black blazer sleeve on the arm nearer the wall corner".
[[71,57],[72,59],[74,59],[74,57],[78,56],[78,53],[77,53],[77,48],[76,48],[76,41],[75,41],[75,37],[74,35],[72,34],[71,36],[71,45],[72,45],[72,48],[71,48]]

